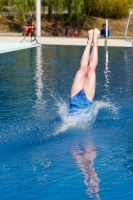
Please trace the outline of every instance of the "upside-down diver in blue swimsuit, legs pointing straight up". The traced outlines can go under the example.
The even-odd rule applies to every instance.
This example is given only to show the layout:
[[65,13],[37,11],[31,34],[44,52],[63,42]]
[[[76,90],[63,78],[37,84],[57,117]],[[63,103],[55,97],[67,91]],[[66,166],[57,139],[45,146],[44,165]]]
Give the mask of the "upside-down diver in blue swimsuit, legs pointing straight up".
[[[95,28],[88,31],[88,41],[83,52],[80,68],[77,71],[72,88],[69,114],[73,115],[85,109],[89,112],[95,95],[96,66],[98,64],[98,37],[100,31]],[[93,44],[92,52],[90,49]]]

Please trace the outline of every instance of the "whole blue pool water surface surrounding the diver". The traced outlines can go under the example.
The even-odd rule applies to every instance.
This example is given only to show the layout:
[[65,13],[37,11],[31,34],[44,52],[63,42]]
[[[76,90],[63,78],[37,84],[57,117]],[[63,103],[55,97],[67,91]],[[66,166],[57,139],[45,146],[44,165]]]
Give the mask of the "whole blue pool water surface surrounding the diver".
[[83,49],[0,55],[0,199],[133,199],[133,50],[99,47],[91,111],[68,117]]

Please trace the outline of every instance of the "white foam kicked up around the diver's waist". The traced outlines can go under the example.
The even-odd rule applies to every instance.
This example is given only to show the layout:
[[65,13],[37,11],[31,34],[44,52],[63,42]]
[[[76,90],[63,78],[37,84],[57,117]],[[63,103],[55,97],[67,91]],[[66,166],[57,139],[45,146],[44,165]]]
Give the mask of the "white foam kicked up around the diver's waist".
[[118,118],[118,108],[115,106],[115,104],[112,104],[110,102],[105,101],[94,101],[90,112],[86,113],[86,110],[80,111],[78,114],[70,116],[68,111],[68,103],[63,101],[60,98],[60,101],[55,101],[55,105],[57,106],[58,115],[61,118],[60,124],[55,127],[53,135],[58,135],[61,132],[65,132],[70,127],[76,127],[85,129],[88,126],[91,126],[98,115],[99,110],[104,109],[105,111],[109,112],[112,115],[109,115],[107,113],[107,116],[111,116],[111,119],[117,119]]

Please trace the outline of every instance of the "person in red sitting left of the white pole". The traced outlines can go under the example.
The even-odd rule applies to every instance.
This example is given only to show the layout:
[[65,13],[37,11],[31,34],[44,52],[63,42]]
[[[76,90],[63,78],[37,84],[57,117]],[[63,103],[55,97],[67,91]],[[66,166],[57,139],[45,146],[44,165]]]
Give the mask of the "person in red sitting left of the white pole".
[[32,20],[28,19],[27,23],[22,26],[23,36],[33,36],[35,31],[35,25],[32,24]]

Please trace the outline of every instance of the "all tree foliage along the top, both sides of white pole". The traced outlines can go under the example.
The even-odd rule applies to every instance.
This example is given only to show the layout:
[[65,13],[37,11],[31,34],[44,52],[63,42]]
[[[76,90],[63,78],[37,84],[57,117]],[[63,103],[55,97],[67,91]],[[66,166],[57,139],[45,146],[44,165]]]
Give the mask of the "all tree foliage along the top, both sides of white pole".
[[[56,15],[62,16],[67,13],[67,20],[71,22],[72,17],[89,14],[121,18],[128,14],[129,8],[133,7],[132,0],[40,0],[42,5],[48,8],[48,19]],[[14,13],[14,20],[20,19],[22,22],[26,20],[26,14],[29,10],[35,12],[36,0],[0,0],[0,9],[3,6],[10,6]]]

